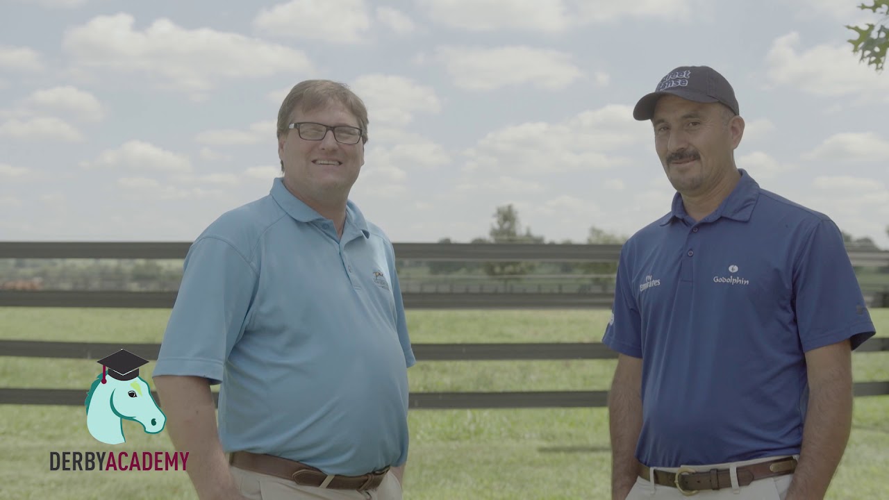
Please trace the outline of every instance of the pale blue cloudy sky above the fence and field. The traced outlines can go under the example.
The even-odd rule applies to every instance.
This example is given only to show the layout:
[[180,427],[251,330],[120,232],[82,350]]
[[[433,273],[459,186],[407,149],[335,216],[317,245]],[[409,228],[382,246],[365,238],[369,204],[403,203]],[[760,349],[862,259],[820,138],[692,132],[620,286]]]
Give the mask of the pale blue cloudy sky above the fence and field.
[[[732,82],[737,164],[889,247],[889,74],[842,0],[0,0],[0,239],[191,240],[268,193],[277,109],[368,105],[351,198],[393,241],[632,234],[673,195],[632,106],[669,70]],[[877,19],[873,19],[877,20]]]

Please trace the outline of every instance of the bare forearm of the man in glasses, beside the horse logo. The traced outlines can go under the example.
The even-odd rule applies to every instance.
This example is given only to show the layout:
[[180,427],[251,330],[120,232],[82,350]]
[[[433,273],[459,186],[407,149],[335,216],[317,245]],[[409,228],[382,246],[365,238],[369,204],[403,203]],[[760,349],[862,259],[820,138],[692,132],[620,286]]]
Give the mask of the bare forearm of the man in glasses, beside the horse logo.
[[177,450],[188,451],[188,477],[198,498],[243,498],[222,451],[216,407],[206,379],[162,375],[155,385],[172,444]]

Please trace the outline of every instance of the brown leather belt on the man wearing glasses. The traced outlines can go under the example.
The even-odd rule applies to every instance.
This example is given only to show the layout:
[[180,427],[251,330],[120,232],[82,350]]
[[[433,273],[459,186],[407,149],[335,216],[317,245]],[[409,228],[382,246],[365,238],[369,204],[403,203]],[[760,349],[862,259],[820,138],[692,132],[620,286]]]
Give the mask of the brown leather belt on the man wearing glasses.
[[259,472],[292,480],[300,486],[316,488],[355,489],[364,491],[375,489],[383,482],[388,467],[382,471],[370,472],[363,476],[338,476],[325,474],[315,467],[300,464],[280,456],[259,455],[249,451],[236,451],[228,457],[228,464],[245,471]]

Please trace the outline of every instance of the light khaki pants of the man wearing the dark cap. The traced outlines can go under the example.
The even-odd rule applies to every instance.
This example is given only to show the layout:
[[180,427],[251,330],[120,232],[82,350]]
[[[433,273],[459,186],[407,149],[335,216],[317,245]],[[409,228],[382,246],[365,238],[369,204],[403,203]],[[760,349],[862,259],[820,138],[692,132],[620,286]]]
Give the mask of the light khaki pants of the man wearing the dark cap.
[[[775,458],[778,457],[770,456],[767,458],[757,458],[756,460],[733,462],[730,464],[692,465],[692,468],[698,472],[707,472],[710,469],[732,469],[733,467],[741,467],[742,465],[768,462]],[[677,468],[658,467],[658,470],[676,472]],[[735,477],[735,480],[737,480],[737,477]],[[694,498],[695,500],[784,500],[787,496],[787,489],[790,487],[791,480],[793,480],[793,474],[786,474],[774,478],[765,478],[765,480],[753,481],[748,486],[740,488],[722,488],[717,491],[704,490],[695,495]],[[684,496],[677,488],[661,486],[642,478],[636,479],[636,484],[633,485],[633,489],[629,490],[629,495],[627,496],[627,500],[678,500],[680,498],[685,499],[688,498],[688,496]]]

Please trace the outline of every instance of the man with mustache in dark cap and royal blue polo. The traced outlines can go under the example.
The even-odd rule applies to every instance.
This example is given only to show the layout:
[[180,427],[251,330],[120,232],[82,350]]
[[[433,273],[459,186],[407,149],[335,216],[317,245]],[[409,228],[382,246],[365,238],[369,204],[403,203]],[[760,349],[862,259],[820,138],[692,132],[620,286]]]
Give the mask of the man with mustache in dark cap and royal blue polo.
[[612,496],[822,498],[875,332],[840,231],[735,165],[744,120],[717,71],[671,71],[633,116],[677,194],[621,249]]

